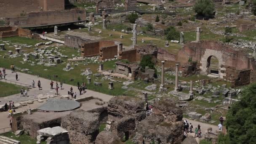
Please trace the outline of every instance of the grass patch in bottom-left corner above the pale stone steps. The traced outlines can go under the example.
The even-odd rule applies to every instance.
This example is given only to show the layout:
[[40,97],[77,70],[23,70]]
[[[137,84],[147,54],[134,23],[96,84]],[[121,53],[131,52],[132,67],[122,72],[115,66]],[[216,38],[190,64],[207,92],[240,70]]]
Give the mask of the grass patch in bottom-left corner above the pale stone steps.
[[[1,134],[1,136],[6,136],[8,138],[15,139],[17,141],[20,141],[21,144],[36,144],[37,142],[36,139],[33,139],[25,134],[21,135],[20,137],[16,137],[12,132],[8,132]],[[46,144],[46,141],[42,141],[41,144]]]

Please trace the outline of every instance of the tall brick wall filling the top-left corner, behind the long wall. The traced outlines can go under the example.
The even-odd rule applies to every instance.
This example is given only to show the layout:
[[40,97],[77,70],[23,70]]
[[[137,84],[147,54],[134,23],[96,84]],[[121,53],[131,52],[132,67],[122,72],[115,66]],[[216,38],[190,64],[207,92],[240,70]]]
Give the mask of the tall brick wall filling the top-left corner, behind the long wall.
[[17,17],[21,13],[64,10],[64,0],[0,0],[0,17]]

